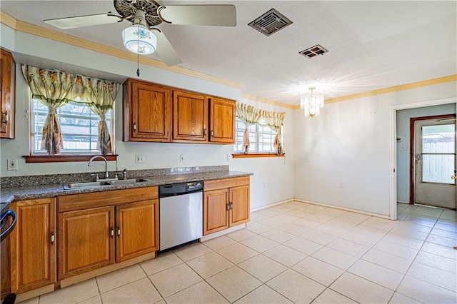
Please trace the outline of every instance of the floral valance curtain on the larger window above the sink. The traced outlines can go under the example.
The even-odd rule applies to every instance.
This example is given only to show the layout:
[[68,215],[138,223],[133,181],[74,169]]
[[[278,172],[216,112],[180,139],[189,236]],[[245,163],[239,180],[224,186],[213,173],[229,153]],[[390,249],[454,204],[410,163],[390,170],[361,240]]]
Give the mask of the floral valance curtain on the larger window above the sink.
[[111,153],[111,138],[105,115],[113,108],[119,91],[119,83],[97,78],[69,74],[64,71],[49,71],[36,66],[22,65],[22,74],[31,89],[32,98],[48,106],[48,116],[43,126],[41,148],[54,155],[64,148],[59,119],[56,111],[69,102],[86,103],[100,116],[99,149],[102,154]]

